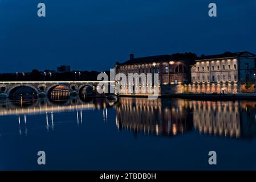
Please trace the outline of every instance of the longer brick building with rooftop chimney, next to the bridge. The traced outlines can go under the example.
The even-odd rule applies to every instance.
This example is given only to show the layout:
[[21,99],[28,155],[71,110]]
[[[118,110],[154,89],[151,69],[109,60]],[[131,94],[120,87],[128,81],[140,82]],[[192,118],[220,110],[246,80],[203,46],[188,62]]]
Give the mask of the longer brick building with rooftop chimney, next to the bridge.
[[[159,93],[167,93],[170,90],[173,92],[182,92],[182,84],[188,84],[190,82],[190,65],[193,64],[193,60],[196,59],[194,53],[176,53],[173,55],[161,55],[161,56],[149,56],[135,58],[133,54],[130,55],[130,59],[124,63],[116,63],[115,74],[124,73],[127,78],[129,73],[137,73],[141,75],[144,73],[159,73]],[[147,90],[148,94],[149,86],[139,86],[139,94],[143,94],[142,90]],[[125,85],[126,93],[134,87],[132,85]],[[151,88],[152,89],[152,88]],[[132,91],[133,92],[133,91]],[[134,93],[134,92],[133,92]],[[144,93],[145,94],[145,93]]]

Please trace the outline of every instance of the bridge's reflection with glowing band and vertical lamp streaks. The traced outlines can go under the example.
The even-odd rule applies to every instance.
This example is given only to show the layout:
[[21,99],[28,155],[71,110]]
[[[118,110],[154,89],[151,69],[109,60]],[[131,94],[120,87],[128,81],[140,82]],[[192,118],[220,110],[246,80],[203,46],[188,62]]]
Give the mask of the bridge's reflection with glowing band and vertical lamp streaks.
[[[115,101],[108,100],[107,98],[93,98],[90,101],[82,101],[79,97],[71,97],[66,102],[59,103],[49,101],[47,97],[39,98],[38,100],[31,101],[24,107],[21,107],[20,102],[10,102],[8,99],[0,100],[0,117],[9,115],[17,116],[19,125],[19,134],[27,135],[27,122],[30,122],[30,115],[41,115],[46,121],[47,131],[54,131],[54,115],[60,112],[73,112],[74,120],[78,126],[83,123],[84,110],[103,110],[103,121],[107,121],[108,110],[107,107],[113,106]],[[1,136],[1,133],[0,133]]]

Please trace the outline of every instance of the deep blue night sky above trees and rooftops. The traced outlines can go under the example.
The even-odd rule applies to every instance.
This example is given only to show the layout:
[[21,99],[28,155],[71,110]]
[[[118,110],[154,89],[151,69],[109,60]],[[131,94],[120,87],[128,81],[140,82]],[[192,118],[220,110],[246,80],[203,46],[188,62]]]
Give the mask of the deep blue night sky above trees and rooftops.
[[[217,18],[208,16],[211,2]],[[130,53],[189,51],[256,53],[256,0],[0,0],[0,72],[101,71]]]

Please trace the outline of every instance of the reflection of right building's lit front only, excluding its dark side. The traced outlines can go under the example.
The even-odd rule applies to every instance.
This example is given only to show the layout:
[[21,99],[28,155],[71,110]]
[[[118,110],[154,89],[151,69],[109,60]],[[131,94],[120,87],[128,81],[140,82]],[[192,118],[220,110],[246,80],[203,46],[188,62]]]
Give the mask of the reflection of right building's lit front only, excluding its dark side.
[[200,133],[240,137],[238,101],[191,101],[193,121]]

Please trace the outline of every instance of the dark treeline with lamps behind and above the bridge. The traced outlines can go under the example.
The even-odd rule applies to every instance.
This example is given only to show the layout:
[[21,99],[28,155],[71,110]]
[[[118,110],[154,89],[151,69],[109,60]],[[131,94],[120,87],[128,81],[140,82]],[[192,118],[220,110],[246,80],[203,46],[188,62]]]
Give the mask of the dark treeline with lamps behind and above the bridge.
[[54,71],[40,72],[33,69],[27,73],[0,73],[0,81],[95,81],[100,72],[72,71],[59,73]]

